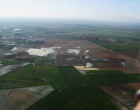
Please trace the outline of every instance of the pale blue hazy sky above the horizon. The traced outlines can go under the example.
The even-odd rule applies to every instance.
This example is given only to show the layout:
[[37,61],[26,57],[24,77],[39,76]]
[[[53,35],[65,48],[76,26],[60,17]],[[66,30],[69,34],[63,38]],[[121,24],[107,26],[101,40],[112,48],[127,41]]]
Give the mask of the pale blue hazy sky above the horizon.
[[140,23],[140,0],[0,0],[0,18],[3,17]]

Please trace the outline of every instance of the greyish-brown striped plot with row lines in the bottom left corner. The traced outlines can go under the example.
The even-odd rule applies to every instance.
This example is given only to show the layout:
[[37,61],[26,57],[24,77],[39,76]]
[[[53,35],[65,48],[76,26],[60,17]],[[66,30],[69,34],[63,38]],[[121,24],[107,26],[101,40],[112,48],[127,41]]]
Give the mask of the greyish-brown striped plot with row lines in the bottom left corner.
[[51,86],[0,90],[0,109],[25,110],[53,90]]

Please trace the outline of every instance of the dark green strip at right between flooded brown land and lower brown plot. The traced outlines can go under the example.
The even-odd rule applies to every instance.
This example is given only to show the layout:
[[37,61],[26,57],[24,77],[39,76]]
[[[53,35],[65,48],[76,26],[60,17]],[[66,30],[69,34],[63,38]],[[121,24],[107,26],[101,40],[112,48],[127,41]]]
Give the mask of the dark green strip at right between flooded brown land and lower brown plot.
[[96,85],[140,82],[140,74],[125,74],[122,71],[88,71],[86,77]]

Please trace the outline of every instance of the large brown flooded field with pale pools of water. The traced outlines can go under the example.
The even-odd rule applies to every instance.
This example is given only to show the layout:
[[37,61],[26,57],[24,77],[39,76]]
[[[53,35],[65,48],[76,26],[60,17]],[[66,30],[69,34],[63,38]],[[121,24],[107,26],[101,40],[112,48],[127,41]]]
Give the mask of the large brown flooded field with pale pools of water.
[[[58,65],[86,66],[104,70],[123,70],[139,73],[140,62],[120,53],[108,50],[86,40],[44,39],[41,48],[18,48],[14,52],[28,52],[29,55],[46,56],[55,54]],[[87,67],[89,67],[87,65]]]

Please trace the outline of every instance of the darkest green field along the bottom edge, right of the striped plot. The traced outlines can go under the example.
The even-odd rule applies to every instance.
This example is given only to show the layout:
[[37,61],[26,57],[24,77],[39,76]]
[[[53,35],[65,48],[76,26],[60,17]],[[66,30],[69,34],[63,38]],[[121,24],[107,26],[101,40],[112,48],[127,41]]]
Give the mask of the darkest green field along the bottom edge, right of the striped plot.
[[86,85],[54,91],[27,110],[117,110],[110,98],[99,88]]

